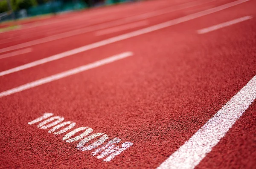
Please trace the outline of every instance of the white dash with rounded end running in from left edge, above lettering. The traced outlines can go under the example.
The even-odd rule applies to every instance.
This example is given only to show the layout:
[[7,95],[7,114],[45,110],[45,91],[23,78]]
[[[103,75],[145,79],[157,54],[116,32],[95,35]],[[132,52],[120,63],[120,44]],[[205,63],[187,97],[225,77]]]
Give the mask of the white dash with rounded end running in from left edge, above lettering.
[[114,55],[112,57],[108,57],[108,58],[105,58],[105,59],[87,64],[87,65],[84,65],[84,66],[77,67],[75,69],[70,69],[70,70],[65,71],[65,72],[61,72],[61,73],[58,73],[58,74],[54,74],[52,76],[48,76],[48,77],[45,77],[45,78],[42,78],[42,79],[39,79],[39,80],[35,80],[33,82],[26,83],[24,85],[15,87],[13,89],[1,92],[0,97],[12,95],[14,93],[21,92],[23,90],[30,89],[30,88],[33,88],[33,87],[36,87],[36,86],[40,86],[42,84],[49,83],[49,82],[52,82],[54,80],[58,80],[58,79],[61,79],[61,78],[67,77],[67,76],[71,76],[73,74],[84,72],[86,70],[93,69],[93,68],[96,68],[96,67],[99,67],[99,66],[114,62],[116,60],[120,60],[120,59],[123,59],[125,57],[132,56],[132,55],[133,55],[132,52],[124,52],[124,53],[121,53],[121,54]]

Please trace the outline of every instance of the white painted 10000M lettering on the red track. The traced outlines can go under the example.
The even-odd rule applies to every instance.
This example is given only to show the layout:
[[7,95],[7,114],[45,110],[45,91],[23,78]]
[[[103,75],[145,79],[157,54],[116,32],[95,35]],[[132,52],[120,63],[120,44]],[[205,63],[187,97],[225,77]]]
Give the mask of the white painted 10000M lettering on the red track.
[[[39,129],[49,129],[48,132],[53,133],[54,135],[63,134],[76,126],[76,123],[72,122],[72,121],[62,122],[62,121],[64,121],[64,117],[61,117],[61,116],[53,116],[52,117],[52,116],[53,116],[53,113],[44,113],[43,116],[30,121],[28,124],[32,125],[32,124],[35,124],[35,123],[38,123],[38,122],[41,122],[42,120],[44,120],[41,123],[39,123],[37,127]],[[64,129],[61,129],[64,126],[67,126],[67,127],[65,127]],[[75,136],[76,133],[81,132],[81,131],[84,131],[84,132],[76,137],[71,138],[71,136]],[[108,140],[108,135],[106,135],[104,133],[91,134],[92,132],[93,132],[93,129],[91,129],[90,127],[79,127],[77,129],[74,129],[73,131],[67,133],[66,135],[64,135],[62,140],[66,141],[67,143],[71,143],[71,142],[76,142],[76,141],[82,139],[76,146],[77,149],[79,149],[81,151],[89,151],[89,150],[95,149],[96,147],[102,145],[106,140]],[[95,141],[94,143],[91,143],[88,146],[86,145],[91,140],[93,140],[99,136],[101,136],[99,138],[99,140]],[[105,158],[103,161],[109,162],[109,161],[113,160],[114,157],[116,157],[117,155],[122,153],[125,149],[127,149],[128,147],[133,145],[133,143],[125,142],[125,143],[122,143],[121,148],[119,148],[119,146],[116,146],[115,144],[118,144],[120,141],[121,141],[121,139],[114,138],[113,140],[110,140],[108,143],[106,143],[101,148],[96,149],[93,153],[91,153],[91,155],[93,155],[93,156],[98,155],[97,156],[98,159]]]

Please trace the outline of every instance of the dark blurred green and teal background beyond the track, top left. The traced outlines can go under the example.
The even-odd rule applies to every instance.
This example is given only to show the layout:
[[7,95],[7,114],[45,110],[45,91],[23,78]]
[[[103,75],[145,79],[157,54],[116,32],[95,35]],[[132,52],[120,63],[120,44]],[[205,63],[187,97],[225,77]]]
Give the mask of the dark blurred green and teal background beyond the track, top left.
[[0,0],[0,23],[136,0]]

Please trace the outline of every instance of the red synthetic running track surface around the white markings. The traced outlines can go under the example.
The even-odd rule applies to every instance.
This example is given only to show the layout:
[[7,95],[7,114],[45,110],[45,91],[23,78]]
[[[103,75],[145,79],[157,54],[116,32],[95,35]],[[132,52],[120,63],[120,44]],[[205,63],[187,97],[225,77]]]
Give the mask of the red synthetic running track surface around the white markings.
[[[214,1],[147,20],[151,26],[232,1]],[[120,18],[186,2],[189,0],[146,1],[81,13],[105,17],[105,12],[112,11],[115,16],[123,11],[116,16]],[[196,33],[198,29],[238,17],[256,17],[255,5],[256,2],[250,0],[175,26],[0,77],[3,92],[114,54],[134,53],[131,57],[0,98],[0,167],[156,168],[256,75],[255,18],[207,34]],[[82,22],[81,13],[70,14],[70,17],[77,17],[73,27]],[[61,23],[53,25],[62,26]],[[53,28],[52,24],[40,27]],[[29,30],[41,30],[40,27]],[[0,71],[143,27],[99,37],[90,32],[31,46],[31,53],[1,59]],[[0,37],[4,39],[19,32],[28,34],[29,31],[6,32]],[[44,36],[39,34],[30,40]],[[196,168],[255,168],[255,103]],[[90,151],[77,150],[77,142],[62,141],[63,135],[55,136],[48,130],[38,129],[37,124],[27,124],[44,112],[74,121],[76,127],[90,126],[93,132],[104,132],[111,139],[119,137],[121,143],[128,141],[134,145],[111,162],[104,162],[91,156]]]

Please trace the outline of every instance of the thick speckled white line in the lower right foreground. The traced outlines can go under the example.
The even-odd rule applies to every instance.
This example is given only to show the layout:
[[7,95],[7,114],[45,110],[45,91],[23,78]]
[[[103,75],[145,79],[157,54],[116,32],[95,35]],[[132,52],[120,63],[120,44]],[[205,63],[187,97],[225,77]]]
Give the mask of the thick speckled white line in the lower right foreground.
[[256,76],[157,169],[194,169],[256,99]]

